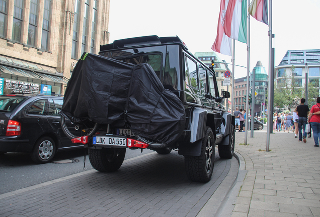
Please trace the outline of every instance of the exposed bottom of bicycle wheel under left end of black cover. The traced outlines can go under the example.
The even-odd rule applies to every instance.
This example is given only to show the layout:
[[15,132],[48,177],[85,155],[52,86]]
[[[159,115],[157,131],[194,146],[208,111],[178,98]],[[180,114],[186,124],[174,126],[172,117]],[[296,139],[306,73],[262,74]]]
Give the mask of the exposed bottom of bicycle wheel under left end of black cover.
[[70,139],[82,136],[92,136],[98,129],[98,123],[86,120],[81,123],[74,124],[69,119],[61,116],[61,127],[63,133]]

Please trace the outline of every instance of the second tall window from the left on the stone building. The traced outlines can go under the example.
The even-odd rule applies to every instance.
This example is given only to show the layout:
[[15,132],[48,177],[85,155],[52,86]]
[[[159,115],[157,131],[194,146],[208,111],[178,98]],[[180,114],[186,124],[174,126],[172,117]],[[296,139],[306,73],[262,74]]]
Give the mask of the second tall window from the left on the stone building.
[[23,0],[15,0],[14,7],[14,19],[13,19],[13,30],[12,30],[12,40],[21,41],[21,28],[23,22]]

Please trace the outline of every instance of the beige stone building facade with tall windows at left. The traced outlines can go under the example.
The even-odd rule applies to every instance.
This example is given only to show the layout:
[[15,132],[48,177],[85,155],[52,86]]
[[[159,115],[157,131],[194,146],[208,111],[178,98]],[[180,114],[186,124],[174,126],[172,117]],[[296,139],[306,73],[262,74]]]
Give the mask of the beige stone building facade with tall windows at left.
[[83,52],[98,54],[109,42],[109,7],[110,0],[0,0],[0,94],[63,94]]

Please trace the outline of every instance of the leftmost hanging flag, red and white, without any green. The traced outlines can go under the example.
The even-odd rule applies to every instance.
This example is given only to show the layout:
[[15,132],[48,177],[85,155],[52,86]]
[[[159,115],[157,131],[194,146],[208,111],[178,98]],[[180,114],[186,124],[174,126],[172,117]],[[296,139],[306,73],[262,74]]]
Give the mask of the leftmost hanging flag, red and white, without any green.
[[229,0],[221,0],[217,37],[211,47],[213,51],[231,56],[231,38],[224,34],[223,26]]

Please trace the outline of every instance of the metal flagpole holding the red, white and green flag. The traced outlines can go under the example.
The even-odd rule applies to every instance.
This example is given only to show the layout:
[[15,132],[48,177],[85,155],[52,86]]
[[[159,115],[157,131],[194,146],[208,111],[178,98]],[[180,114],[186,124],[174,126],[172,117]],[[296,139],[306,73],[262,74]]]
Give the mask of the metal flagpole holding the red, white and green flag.
[[[248,8],[250,6],[250,1],[248,1]],[[249,96],[249,87],[250,87],[250,81],[249,81],[249,74],[250,74],[250,14],[248,14],[247,17],[247,100],[246,100],[246,121],[245,121],[245,125],[246,125],[246,131],[245,131],[245,145],[247,145],[247,141],[248,141],[248,129],[249,129],[249,125],[248,125],[248,119],[249,119],[249,100],[248,100],[248,96]]]

